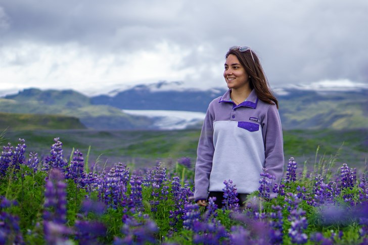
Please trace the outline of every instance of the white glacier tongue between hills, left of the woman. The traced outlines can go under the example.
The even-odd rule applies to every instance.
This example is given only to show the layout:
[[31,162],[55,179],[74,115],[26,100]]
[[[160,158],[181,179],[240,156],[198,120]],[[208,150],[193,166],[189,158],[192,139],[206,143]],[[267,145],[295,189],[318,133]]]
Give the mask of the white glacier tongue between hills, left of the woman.
[[166,110],[122,110],[123,113],[145,116],[154,120],[154,126],[159,129],[185,129],[204,120],[202,112],[166,111]]

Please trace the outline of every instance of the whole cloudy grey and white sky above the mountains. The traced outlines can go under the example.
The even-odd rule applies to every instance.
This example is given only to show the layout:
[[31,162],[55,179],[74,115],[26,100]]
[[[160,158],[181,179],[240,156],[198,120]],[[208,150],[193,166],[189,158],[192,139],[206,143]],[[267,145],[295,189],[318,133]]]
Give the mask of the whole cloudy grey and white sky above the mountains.
[[0,90],[225,87],[233,45],[271,86],[368,84],[368,1],[0,0]]

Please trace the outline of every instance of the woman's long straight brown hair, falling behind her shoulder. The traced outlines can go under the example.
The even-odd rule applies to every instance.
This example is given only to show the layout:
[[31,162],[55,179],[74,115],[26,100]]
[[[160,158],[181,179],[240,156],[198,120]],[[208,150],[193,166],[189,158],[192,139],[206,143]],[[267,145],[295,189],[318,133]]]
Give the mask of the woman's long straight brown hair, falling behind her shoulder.
[[[252,53],[251,53],[252,52]],[[274,96],[266,75],[264,74],[261,63],[259,62],[258,56],[251,50],[240,52],[238,48],[229,50],[226,53],[226,59],[229,55],[235,55],[240,64],[244,67],[248,75],[250,75],[249,83],[251,89],[255,89],[255,92],[259,100],[268,103],[275,104],[279,109],[279,102]],[[254,59],[254,61],[253,61]]]

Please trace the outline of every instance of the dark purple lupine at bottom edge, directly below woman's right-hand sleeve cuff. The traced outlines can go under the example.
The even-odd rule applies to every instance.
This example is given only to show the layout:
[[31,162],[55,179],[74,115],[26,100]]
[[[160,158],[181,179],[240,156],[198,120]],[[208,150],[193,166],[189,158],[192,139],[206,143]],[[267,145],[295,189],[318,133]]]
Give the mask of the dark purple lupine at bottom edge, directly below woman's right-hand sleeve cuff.
[[272,210],[275,212],[270,213],[270,218],[273,219],[270,221],[270,242],[271,244],[282,244],[283,243],[283,214],[282,208],[278,206],[271,206]]

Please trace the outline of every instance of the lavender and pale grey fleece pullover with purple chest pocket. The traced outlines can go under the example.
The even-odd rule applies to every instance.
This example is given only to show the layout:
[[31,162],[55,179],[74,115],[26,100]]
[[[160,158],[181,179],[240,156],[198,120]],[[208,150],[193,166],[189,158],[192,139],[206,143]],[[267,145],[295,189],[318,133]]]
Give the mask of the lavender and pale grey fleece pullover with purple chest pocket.
[[196,202],[206,200],[209,191],[223,191],[224,180],[233,180],[238,193],[251,193],[258,189],[263,169],[276,177],[274,183],[283,175],[283,132],[276,105],[258,100],[253,89],[236,106],[230,93],[208,106],[198,142]]

